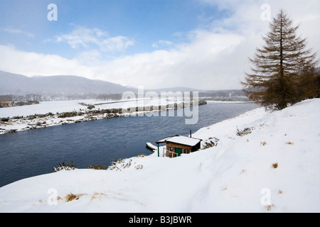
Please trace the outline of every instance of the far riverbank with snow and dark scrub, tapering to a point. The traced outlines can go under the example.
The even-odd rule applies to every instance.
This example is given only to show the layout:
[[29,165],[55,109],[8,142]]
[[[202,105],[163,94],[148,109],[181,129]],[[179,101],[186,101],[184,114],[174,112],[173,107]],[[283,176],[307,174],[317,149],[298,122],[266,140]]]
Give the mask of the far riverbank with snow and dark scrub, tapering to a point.
[[[103,102],[96,100],[78,101],[54,101],[43,102],[39,106],[19,106],[20,109],[13,109],[7,113],[1,113],[0,134],[15,133],[36,128],[46,128],[50,126],[60,126],[69,123],[80,123],[84,121],[95,121],[106,118],[117,118],[122,116],[137,116],[139,114],[149,114],[151,112],[166,111],[170,109],[181,109],[192,106],[192,103],[174,102],[176,100],[124,100]],[[139,106],[132,106],[132,102]],[[70,103],[70,105],[68,105]],[[166,103],[164,106],[156,104]],[[204,105],[206,101],[198,101],[198,105]],[[60,106],[60,107],[59,107]],[[23,107],[23,109],[21,109]],[[107,109],[105,109],[107,108]],[[9,108],[8,108],[9,109]],[[47,109],[47,110],[46,110]],[[53,112],[48,112],[50,110]],[[18,110],[18,111],[16,111]],[[23,110],[25,112],[23,112]],[[70,111],[72,110],[72,111]],[[16,114],[33,113],[28,116]]]

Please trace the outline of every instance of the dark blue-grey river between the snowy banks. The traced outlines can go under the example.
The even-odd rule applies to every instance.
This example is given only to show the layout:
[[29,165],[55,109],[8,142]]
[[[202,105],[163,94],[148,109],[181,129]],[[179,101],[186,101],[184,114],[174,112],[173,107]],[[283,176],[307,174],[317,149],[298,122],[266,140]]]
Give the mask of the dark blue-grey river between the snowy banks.
[[[0,187],[26,177],[53,172],[59,163],[78,168],[151,154],[145,143],[155,144],[169,135],[188,135],[257,108],[256,104],[199,106],[198,123],[186,125],[185,116],[130,116],[72,123],[0,135]],[[171,112],[172,113],[172,112]],[[157,114],[158,115],[158,114]],[[160,115],[160,114],[159,114]]]

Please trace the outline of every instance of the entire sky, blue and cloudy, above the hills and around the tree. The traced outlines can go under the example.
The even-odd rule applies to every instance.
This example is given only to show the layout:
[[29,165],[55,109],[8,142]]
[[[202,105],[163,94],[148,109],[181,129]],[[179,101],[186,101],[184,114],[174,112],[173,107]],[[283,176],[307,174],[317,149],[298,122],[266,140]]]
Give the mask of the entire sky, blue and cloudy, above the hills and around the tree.
[[241,89],[281,8],[319,52],[319,0],[0,0],[0,70]]

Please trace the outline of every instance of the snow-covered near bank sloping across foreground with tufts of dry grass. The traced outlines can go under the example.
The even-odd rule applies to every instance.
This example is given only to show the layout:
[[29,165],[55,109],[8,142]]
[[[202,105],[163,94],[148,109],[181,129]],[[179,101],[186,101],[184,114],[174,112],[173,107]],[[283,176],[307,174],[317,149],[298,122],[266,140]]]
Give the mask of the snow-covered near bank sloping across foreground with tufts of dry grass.
[[319,113],[320,99],[259,108],[194,133],[218,139],[196,153],[23,179],[0,188],[0,212],[320,212]]

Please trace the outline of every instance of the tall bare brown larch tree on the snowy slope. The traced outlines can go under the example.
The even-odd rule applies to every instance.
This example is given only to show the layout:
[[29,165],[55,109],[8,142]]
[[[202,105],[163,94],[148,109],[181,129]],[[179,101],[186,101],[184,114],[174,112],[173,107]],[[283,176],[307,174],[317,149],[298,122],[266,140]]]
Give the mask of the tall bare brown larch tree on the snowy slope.
[[241,82],[250,100],[280,110],[314,95],[305,92],[313,86],[318,61],[316,53],[306,50],[306,38],[296,34],[298,28],[282,9],[270,23],[269,33],[262,36],[265,45],[250,58],[252,72]]

